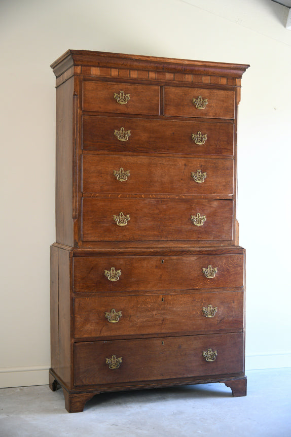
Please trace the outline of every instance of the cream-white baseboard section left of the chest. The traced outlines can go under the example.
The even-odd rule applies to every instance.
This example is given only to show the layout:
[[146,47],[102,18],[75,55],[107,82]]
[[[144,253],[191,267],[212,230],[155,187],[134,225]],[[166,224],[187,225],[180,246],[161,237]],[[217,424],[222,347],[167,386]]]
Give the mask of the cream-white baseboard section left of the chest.
[[49,366],[0,368],[0,387],[24,387],[49,383]]

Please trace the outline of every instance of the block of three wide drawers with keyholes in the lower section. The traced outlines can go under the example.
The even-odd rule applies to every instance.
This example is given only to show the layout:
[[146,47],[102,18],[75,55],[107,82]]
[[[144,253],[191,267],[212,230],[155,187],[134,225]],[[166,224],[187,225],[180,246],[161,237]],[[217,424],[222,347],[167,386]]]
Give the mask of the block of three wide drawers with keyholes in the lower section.
[[76,256],[71,277],[76,388],[244,372],[243,250]]

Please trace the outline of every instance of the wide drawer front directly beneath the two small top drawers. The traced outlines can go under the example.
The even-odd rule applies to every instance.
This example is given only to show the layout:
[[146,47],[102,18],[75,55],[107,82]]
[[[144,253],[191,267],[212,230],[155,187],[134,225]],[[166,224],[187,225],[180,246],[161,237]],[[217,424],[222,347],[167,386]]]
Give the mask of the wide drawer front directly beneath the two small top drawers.
[[83,116],[84,150],[232,156],[233,142],[233,123]]

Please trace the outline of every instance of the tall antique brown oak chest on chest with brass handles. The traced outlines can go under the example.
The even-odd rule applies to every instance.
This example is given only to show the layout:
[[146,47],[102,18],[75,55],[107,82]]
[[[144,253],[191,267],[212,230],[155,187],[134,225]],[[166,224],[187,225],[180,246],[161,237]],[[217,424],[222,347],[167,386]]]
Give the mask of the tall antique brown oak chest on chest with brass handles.
[[68,50],[56,76],[50,387],[246,394],[237,106],[248,65]]

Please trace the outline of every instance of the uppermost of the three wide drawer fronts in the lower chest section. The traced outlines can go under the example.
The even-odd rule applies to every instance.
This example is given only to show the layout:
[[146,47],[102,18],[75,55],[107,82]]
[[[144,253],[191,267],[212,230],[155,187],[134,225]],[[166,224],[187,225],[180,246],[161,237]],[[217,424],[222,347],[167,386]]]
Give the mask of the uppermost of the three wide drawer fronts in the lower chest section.
[[[209,278],[204,271],[216,268]],[[112,270],[112,267],[114,270]],[[109,276],[106,272],[112,272]],[[119,272],[114,273],[114,272]],[[211,272],[211,269],[209,269]],[[74,257],[74,292],[235,288],[244,284],[244,255]],[[116,280],[112,280],[116,279]],[[210,302],[211,303],[211,302]],[[117,310],[117,308],[116,308]]]

